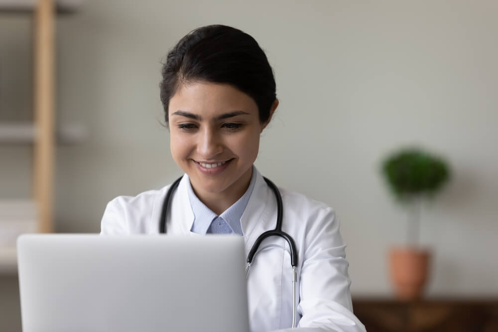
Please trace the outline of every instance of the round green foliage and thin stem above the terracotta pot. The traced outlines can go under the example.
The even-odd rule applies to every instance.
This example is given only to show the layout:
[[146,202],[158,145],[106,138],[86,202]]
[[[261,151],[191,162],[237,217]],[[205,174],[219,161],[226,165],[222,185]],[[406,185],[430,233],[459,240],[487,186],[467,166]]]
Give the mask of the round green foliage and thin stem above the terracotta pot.
[[398,202],[408,206],[408,242],[418,244],[423,198],[432,198],[449,180],[447,162],[416,148],[406,148],[382,161],[382,175]]

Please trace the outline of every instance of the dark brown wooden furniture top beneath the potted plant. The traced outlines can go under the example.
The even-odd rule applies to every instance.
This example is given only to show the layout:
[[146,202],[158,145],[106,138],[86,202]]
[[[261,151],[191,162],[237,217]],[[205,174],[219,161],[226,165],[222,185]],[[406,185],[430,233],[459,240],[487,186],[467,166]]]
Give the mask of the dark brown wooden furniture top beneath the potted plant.
[[367,332],[498,332],[498,299],[353,299]]

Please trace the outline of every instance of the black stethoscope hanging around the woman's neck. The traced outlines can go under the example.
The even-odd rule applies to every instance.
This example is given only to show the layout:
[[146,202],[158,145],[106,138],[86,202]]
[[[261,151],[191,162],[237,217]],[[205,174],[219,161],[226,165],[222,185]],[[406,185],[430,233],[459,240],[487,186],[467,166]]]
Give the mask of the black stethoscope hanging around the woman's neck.
[[[161,220],[159,221],[159,232],[160,233],[166,233],[166,218],[167,218],[167,213],[168,213],[168,208],[171,203],[171,197],[173,195],[173,192],[175,189],[178,187],[180,184],[180,181],[183,177],[178,178],[171,187],[169,187],[168,192],[166,193],[166,198],[164,199],[164,203],[162,205],[162,212],[161,212]],[[282,214],[283,214],[283,208],[282,208],[282,196],[280,195],[280,192],[278,191],[278,188],[268,180],[267,178],[263,177],[264,181],[266,181],[266,184],[270,187],[270,189],[273,191],[273,194],[275,195],[275,198],[277,200],[277,224],[275,226],[275,229],[272,230],[267,230],[261,235],[258,236],[256,241],[254,242],[254,245],[249,251],[248,259],[247,259],[247,266],[246,266],[246,277],[249,275],[249,269],[250,269],[250,264],[252,263],[252,259],[254,258],[254,255],[256,254],[257,248],[259,247],[259,244],[261,242],[269,237],[269,236],[280,236],[284,238],[287,243],[289,244],[290,248],[290,264],[292,265],[292,307],[294,308],[292,312],[292,328],[296,327],[296,282],[297,282],[297,249],[296,245],[294,244],[294,239],[284,232],[282,230]]]

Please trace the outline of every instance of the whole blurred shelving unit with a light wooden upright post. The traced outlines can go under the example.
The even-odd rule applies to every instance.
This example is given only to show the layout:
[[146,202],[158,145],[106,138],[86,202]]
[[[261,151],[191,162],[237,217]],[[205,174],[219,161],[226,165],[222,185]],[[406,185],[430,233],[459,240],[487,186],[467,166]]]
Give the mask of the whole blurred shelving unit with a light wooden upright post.
[[[86,136],[78,126],[55,127],[55,14],[74,12],[83,0],[0,0],[0,13],[27,13],[33,17],[33,118],[32,123],[0,122],[1,143],[31,143],[33,145],[33,199],[36,215],[5,215],[0,207],[0,250],[15,246],[21,233],[35,230],[52,232],[54,223],[53,192],[55,142],[74,142]],[[78,8],[79,9],[79,8]],[[0,17],[1,18],[1,17]],[[2,202],[0,201],[0,204]],[[34,209],[33,209],[34,211]],[[19,218],[17,218],[17,217]],[[33,228],[33,227],[31,227]],[[2,250],[3,251],[3,250]],[[2,254],[1,266],[10,266],[12,252]],[[5,256],[6,255],[6,256]]]

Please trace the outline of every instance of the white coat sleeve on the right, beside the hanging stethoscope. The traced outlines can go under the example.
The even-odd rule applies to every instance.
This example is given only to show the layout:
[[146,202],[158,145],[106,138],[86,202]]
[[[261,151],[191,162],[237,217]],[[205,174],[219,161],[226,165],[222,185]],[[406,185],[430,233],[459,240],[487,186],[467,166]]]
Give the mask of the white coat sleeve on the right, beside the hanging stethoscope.
[[[306,231],[300,272],[300,332],[366,332],[353,314],[349,263],[332,208],[321,209]],[[296,329],[279,330],[290,332]]]

